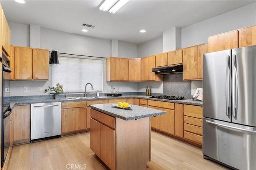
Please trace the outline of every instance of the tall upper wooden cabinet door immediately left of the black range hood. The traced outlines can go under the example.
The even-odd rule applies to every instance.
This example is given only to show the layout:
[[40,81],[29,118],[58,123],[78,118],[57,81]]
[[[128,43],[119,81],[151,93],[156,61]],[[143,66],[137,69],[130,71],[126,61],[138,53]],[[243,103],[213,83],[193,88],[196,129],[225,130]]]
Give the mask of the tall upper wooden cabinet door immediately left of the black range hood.
[[154,81],[156,80],[156,73],[152,72],[152,68],[156,67],[156,57],[144,57],[141,59],[141,80]]

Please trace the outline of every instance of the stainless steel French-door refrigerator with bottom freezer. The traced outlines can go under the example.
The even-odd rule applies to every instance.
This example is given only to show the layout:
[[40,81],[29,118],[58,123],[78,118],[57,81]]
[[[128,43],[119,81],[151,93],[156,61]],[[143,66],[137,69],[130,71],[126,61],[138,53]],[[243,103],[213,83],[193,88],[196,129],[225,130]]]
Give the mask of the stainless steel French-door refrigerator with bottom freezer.
[[203,154],[256,170],[256,45],[203,56]]

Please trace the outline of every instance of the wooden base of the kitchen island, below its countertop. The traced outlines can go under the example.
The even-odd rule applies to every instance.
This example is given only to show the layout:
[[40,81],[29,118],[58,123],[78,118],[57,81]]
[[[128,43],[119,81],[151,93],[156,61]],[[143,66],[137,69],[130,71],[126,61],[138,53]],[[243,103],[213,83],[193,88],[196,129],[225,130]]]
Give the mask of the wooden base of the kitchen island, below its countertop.
[[92,109],[90,123],[90,148],[111,170],[146,169],[150,117],[124,121]]

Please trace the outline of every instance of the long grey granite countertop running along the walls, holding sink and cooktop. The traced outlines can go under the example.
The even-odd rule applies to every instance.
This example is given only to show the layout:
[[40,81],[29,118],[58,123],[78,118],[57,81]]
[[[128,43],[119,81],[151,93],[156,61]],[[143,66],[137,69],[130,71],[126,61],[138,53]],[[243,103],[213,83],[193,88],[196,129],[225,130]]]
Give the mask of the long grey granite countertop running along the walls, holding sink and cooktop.
[[104,99],[123,99],[123,98],[140,98],[140,99],[148,99],[148,100],[155,100],[155,101],[166,101],[172,103],[181,103],[187,105],[196,105],[202,106],[202,101],[196,101],[192,99],[184,99],[184,100],[166,100],[166,99],[155,99],[150,98],[150,96],[145,95],[124,95],[120,97],[111,97],[111,96],[102,96],[98,98],[88,98],[88,99],[26,99],[26,100],[13,100],[10,101],[10,107],[17,106],[17,105],[30,105],[32,103],[50,103],[50,102],[72,102],[72,101],[92,101],[92,100],[104,100]]

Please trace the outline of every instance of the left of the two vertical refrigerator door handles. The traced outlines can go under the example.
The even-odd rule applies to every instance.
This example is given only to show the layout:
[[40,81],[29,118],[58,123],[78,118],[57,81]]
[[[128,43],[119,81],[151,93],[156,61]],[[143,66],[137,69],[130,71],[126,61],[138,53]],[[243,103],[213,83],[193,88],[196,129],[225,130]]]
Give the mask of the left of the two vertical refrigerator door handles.
[[231,85],[231,69],[230,69],[230,56],[227,55],[226,59],[226,115],[230,115],[230,106],[231,106],[231,94],[230,94],[230,85]]

